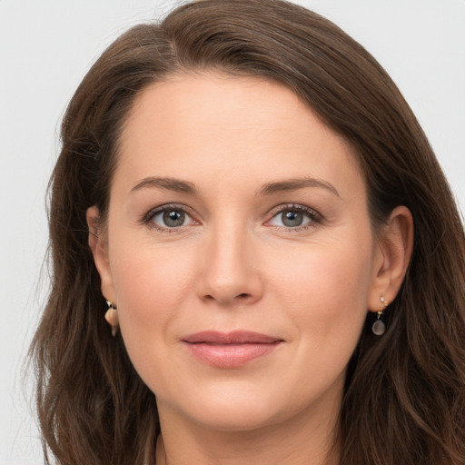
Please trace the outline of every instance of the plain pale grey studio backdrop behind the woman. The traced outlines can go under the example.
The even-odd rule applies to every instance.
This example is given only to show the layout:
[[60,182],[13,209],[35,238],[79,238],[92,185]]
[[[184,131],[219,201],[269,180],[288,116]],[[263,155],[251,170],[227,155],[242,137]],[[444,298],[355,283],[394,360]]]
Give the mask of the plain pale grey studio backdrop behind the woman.
[[[25,355],[48,289],[45,189],[85,72],[172,0],[0,0],[0,465],[43,463]],[[465,0],[301,0],[401,88],[465,209]],[[102,318],[104,313],[102,313]]]

